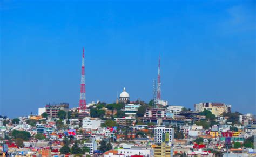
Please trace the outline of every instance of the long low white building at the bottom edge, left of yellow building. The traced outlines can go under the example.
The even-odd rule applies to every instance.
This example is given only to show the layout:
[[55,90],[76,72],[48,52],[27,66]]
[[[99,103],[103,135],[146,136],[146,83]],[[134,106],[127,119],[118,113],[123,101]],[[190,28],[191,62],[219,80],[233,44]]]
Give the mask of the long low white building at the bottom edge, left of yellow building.
[[131,155],[154,156],[152,149],[118,149],[118,154],[127,157]]

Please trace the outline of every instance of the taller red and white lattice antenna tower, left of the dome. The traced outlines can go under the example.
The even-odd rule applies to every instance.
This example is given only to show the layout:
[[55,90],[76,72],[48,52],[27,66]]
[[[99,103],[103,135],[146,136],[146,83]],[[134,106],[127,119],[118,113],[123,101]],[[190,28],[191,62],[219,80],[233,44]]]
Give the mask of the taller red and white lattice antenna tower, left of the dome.
[[85,68],[84,68],[84,48],[82,58],[82,76],[80,85],[80,98],[79,98],[79,112],[84,113],[86,109],[86,98],[85,98]]

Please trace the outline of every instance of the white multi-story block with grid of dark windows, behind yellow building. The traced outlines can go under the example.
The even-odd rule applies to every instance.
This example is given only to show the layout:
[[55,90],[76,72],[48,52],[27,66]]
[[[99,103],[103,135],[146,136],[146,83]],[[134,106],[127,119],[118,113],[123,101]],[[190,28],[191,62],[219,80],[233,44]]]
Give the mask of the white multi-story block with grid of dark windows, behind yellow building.
[[154,144],[161,144],[165,135],[169,135],[169,145],[171,145],[174,138],[174,128],[157,125],[154,128]]

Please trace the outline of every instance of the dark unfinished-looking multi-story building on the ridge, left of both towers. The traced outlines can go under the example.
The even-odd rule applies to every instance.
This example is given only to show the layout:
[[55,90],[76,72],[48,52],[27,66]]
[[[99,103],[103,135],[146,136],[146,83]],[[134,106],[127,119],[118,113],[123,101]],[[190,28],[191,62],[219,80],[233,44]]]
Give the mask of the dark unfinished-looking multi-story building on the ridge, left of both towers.
[[48,114],[49,118],[57,118],[58,112],[63,110],[65,112],[69,111],[69,104],[68,103],[60,103],[56,105],[46,105],[45,106],[46,113]]

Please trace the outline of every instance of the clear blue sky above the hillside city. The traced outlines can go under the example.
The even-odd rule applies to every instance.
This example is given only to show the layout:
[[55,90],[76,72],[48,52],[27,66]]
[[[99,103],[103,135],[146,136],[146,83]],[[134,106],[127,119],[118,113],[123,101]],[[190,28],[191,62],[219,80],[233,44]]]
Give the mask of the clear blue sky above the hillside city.
[[112,103],[126,87],[149,101],[161,56],[169,105],[213,101],[256,113],[256,1],[7,1],[1,5],[0,115]]

